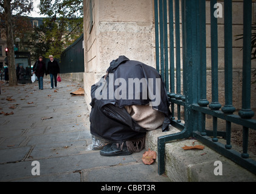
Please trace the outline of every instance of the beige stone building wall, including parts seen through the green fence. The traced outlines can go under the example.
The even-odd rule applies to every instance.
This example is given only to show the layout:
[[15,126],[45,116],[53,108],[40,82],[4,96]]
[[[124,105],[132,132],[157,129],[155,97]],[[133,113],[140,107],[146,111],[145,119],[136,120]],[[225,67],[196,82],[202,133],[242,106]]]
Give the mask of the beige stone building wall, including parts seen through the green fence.
[[[218,9],[216,13],[218,15],[218,79],[221,85],[219,100],[221,104],[224,104],[224,1],[218,2],[222,5],[216,7],[216,10]],[[89,104],[91,101],[91,85],[99,81],[112,59],[118,58],[119,55],[125,55],[129,59],[156,67],[154,1],[84,0],[83,5],[85,37],[85,73],[83,80],[85,99]],[[181,11],[181,1],[179,1],[179,5]],[[210,76],[210,1],[206,1],[206,13],[207,76]],[[252,22],[256,22],[255,13],[255,1],[253,1]],[[236,39],[239,38],[237,35],[243,34],[243,1],[233,1],[232,17],[233,78],[234,85],[241,86],[243,40]],[[180,32],[182,32],[181,16],[179,23]],[[172,33],[175,34],[175,30]],[[182,35],[180,43],[182,70]],[[176,56],[174,57],[176,60]],[[252,71],[256,69],[255,61],[252,60]],[[255,79],[255,77],[252,77],[252,79]],[[210,77],[207,77],[207,84],[211,84]],[[256,90],[254,88],[252,85],[252,106],[253,109],[256,109]],[[234,104],[236,106],[241,104],[240,94],[241,87],[234,87]],[[207,90],[207,98],[209,98],[209,101],[211,100],[211,90]]]

